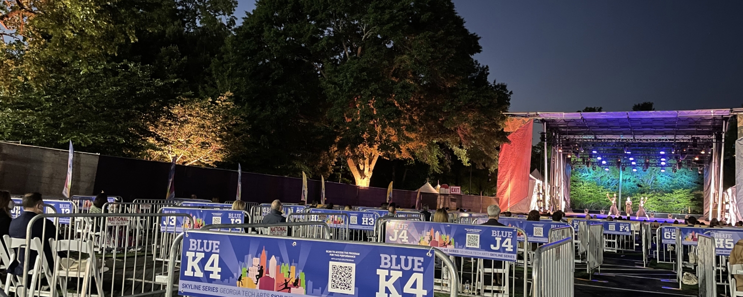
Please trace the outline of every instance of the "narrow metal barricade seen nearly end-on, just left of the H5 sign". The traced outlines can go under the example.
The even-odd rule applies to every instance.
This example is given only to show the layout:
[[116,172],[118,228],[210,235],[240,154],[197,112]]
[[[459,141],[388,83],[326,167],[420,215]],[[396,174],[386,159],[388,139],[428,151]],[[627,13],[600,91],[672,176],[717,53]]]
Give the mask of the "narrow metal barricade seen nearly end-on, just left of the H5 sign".
[[699,296],[717,296],[717,272],[715,238],[708,235],[697,235],[697,277],[699,283]]

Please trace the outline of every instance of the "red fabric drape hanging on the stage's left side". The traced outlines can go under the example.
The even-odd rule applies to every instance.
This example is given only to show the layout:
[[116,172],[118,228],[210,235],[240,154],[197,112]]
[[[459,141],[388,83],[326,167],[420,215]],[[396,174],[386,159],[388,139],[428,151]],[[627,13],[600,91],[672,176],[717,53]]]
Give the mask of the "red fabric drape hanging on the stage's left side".
[[498,189],[496,198],[503,211],[529,212],[529,166],[531,166],[531,134],[533,121],[510,118],[506,122],[510,143],[501,146],[498,159]]

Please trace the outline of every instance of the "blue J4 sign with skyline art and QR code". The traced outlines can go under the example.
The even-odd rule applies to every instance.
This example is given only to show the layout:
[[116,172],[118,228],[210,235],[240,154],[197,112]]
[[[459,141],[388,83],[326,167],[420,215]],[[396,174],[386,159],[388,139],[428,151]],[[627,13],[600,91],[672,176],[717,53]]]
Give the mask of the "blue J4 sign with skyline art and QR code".
[[447,255],[516,261],[516,229],[422,221],[389,221],[385,242],[436,247]]

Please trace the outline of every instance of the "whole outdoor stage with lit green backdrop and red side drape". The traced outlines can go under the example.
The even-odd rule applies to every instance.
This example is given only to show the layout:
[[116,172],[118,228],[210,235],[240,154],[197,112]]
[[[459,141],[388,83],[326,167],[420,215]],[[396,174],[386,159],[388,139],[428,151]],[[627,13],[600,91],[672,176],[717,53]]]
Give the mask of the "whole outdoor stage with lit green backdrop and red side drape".
[[[499,205],[510,212],[559,209],[584,216],[572,210],[609,213],[615,199],[621,211],[632,198],[637,211],[645,198],[645,209],[658,221],[668,213],[683,220],[689,212],[703,213],[694,216],[705,220],[742,221],[743,201],[722,183],[723,144],[736,112],[508,113],[510,143],[500,151]],[[534,123],[542,128],[541,160],[531,159]]]

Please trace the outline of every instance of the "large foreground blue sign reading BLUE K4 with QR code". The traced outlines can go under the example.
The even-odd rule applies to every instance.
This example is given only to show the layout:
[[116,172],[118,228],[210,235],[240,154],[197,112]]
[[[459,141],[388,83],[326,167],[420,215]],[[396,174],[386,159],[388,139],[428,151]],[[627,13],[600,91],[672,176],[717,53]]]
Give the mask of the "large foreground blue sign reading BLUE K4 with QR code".
[[188,235],[178,283],[183,296],[434,296],[434,254],[427,249],[224,232]]

